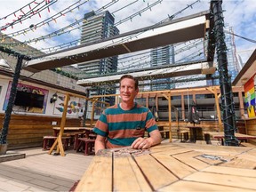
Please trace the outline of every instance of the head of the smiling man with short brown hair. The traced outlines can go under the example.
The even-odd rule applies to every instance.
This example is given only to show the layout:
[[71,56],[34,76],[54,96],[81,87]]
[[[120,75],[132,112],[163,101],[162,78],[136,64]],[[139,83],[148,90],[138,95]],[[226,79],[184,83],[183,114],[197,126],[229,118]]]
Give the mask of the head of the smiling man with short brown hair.
[[135,82],[130,78],[124,78],[120,84],[120,96],[124,102],[132,102],[139,89],[135,89]]

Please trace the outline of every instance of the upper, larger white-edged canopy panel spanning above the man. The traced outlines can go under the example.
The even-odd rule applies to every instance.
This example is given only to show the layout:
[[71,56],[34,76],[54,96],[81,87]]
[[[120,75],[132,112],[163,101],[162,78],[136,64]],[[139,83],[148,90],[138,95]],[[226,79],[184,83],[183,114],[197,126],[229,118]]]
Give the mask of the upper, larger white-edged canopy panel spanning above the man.
[[98,43],[81,44],[72,49],[48,54],[40,59],[29,60],[25,69],[39,72],[45,69],[60,68],[89,60],[204,38],[208,14],[209,12],[206,11],[199,12],[188,17],[113,36]]

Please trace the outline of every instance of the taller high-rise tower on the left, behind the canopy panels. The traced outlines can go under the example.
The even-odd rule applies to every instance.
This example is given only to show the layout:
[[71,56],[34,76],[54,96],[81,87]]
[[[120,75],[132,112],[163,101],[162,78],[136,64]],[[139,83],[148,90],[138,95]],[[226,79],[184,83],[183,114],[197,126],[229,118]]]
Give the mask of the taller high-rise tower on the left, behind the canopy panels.
[[[101,12],[95,14],[88,12],[84,14],[84,22],[82,27],[81,44],[93,44],[110,36],[119,34],[119,30],[114,26],[115,19],[110,12]],[[92,60],[78,64],[77,68],[83,71],[83,78],[92,76],[100,76],[110,72],[117,71],[117,56],[108,57],[100,60]],[[116,93],[114,89],[90,89],[90,96],[100,94]],[[113,104],[114,100],[103,98],[104,101]]]

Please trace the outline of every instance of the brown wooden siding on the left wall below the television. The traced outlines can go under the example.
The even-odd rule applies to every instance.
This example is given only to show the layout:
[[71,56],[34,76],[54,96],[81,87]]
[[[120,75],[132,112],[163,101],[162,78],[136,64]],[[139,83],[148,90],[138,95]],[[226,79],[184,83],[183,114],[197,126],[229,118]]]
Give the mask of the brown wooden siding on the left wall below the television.
[[[61,117],[12,115],[8,130],[8,149],[42,146],[44,135],[52,135],[52,126],[60,126]],[[0,114],[3,126],[4,114]],[[57,125],[52,125],[57,122]],[[67,118],[66,126],[80,126],[79,119]]]

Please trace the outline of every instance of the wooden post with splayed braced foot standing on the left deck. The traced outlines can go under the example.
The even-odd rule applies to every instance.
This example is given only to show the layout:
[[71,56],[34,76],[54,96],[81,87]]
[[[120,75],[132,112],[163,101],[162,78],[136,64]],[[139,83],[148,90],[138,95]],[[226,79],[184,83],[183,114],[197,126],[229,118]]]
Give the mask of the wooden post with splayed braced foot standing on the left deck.
[[60,156],[65,156],[65,152],[64,152],[64,148],[63,148],[63,144],[62,144],[62,135],[63,135],[64,127],[66,124],[66,116],[67,116],[67,111],[68,111],[68,100],[69,100],[69,94],[67,93],[66,97],[65,97],[64,109],[63,109],[62,117],[61,117],[60,133],[58,135],[57,140],[54,141],[52,148],[50,148],[50,151],[48,153],[49,155],[52,154],[52,150],[57,146],[56,153],[57,154],[60,153]]

